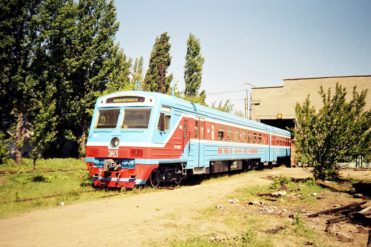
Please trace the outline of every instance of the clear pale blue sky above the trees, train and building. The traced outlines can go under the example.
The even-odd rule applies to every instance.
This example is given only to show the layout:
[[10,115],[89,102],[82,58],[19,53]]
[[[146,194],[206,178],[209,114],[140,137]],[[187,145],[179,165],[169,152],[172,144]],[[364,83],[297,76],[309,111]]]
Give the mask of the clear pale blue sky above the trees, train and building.
[[[126,1],[116,0],[116,34],[125,54],[144,57],[167,31],[168,71],[184,89],[186,41],[193,33],[205,57],[206,93],[281,86],[282,79],[371,74],[371,0]],[[244,112],[246,91],[208,95],[231,99]]]

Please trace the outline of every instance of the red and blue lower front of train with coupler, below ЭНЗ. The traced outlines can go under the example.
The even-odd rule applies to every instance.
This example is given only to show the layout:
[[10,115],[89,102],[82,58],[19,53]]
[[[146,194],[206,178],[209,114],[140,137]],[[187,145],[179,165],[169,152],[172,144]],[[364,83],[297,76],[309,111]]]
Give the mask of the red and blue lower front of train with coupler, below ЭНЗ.
[[145,184],[158,164],[135,164],[134,159],[86,158],[95,186],[126,187]]

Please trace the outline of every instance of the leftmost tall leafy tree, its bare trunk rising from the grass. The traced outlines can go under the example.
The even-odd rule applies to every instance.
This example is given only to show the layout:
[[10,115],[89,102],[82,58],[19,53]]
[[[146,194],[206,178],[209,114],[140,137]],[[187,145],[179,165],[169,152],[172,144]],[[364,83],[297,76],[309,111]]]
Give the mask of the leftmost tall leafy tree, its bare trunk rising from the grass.
[[0,4],[1,110],[13,123],[16,163],[20,164],[20,150],[26,133],[23,120],[32,117],[30,101],[43,88],[32,75],[37,71],[37,58],[45,54],[40,14],[45,1],[11,0]]

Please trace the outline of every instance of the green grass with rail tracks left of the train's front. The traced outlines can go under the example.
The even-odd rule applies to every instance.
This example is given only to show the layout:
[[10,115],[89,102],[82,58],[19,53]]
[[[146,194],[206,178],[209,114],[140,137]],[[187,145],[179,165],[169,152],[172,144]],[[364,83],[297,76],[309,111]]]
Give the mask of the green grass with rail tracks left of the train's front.
[[[98,187],[95,191],[84,193],[84,191],[95,189],[88,170],[35,172],[34,181],[31,182],[31,173],[25,173],[25,171],[32,170],[32,160],[23,159],[22,161],[23,164],[21,165],[15,165],[13,162],[9,166],[0,166],[0,170],[18,171],[15,174],[0,175],[0,218],[12,217],[36,209],[57,207],[62,202],[64,205],[68,205],[84,201],[128,197],[135,194],[156,191],[152,188],[139,189],[135,187],[132,190],[126,190],[125,188]],[[73,168],[85,169],[86,165],[84,162],[73,158],[40,159],[36,162],[36,171]],[[125,192],[125,194],[99,198],[120,192]],[[30,201],[12,202],[18,199],[56,194],[62,195],[50,198],[38,198]]]

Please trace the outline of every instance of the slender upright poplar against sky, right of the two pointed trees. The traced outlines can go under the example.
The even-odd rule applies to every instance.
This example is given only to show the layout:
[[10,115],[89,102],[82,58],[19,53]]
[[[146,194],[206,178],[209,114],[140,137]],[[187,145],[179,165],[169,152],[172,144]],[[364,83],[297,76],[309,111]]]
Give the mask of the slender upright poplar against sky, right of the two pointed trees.
[[201,56],[200,39],[190,33],[187,40],[187,54],[185,55],[184,64],[184,82],[186,96],[195,96],[201,86],[202,80],[202,66],[205,62],[204,57]]

